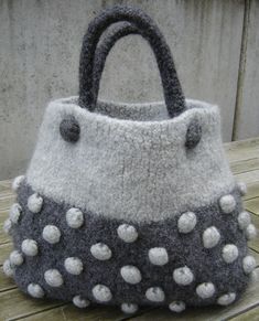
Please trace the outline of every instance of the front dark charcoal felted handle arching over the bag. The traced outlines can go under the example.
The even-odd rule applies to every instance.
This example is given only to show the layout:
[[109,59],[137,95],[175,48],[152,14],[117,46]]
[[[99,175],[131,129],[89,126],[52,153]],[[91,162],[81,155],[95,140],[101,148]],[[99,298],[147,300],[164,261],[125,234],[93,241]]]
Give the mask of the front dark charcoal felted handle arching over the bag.
[[93,89],[94,60],[102,32],[112,23],[128,21],[142,31],[141,35],[150,43],[160,69],[165,105],[171,117],[185,109],[185,98],[177,78],[174,62],[162,33],[151,18],[139,9],[116,6],[95,18],[83,40],[79,62],[79,100],[83,108],[95,110]]

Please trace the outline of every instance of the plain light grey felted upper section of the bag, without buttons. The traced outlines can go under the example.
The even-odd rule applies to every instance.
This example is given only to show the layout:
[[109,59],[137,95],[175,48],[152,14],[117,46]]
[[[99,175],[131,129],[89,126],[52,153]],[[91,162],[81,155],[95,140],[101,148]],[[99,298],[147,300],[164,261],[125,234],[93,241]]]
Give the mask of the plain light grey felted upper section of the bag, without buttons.
[[[28,182],[55,202],[136,222],[206,206],[222,193],[228,194],[235,181],[222,147],[218,108],[197,100],[186,100],[186,105],[182,115],[161,121],[148,120],[158,111],[150,117],[148,113],[157,108],[164,115],[162,103],[149,104],[147,109],[139,105],[133,109],[145,114],[147,120],[132,121],[100,114],[101,103],[97,114],[80,108],[74,98],[55,100],[46,110]],[[123,108],[125,114],[133,113],[131,105]],[[120,109],[115,107],[115,111]],[[76,143],[60,133],[60,124],[68,115],[80,127]],[[188,149],[186,132],[193,119],[203,135]]]

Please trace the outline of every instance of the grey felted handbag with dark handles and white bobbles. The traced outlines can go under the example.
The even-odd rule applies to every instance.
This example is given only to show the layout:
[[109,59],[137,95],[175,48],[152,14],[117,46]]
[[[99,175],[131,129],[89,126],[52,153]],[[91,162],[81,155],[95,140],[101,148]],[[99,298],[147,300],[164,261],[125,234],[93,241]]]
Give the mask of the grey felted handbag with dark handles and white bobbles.
[[[101,34],[117,25],[102,42]],[[161,74],[164,101],[97,99],[115,42],[141,34]],[[98,47],[97,47],[98,46]],[[6,229],[7,275],[33,298],[120,306],[226,306],[256,266],[242,208],[246,186],[225,158],[217,106],[185,99],[154,22],[115,7],[89,24],[79,97],[52,101]]]

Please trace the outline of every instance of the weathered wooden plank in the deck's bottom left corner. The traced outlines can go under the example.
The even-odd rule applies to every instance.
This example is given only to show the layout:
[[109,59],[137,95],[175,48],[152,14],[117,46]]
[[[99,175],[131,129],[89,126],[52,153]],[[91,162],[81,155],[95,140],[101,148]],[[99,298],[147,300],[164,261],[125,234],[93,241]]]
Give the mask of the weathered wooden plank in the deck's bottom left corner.
[[19,319],[24,315],[30,315],[42,310],[61,306],[61,302],[56,300],[32,299],[22,293],[19,289],[1,292],[0,302],[0,320]]

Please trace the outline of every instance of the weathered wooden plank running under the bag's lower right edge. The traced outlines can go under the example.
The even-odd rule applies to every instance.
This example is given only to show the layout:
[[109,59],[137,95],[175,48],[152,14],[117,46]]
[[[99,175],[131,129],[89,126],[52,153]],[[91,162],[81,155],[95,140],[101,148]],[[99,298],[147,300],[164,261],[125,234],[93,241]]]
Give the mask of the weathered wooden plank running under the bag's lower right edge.
[[[256,269],[256,275],[259,277],[259,268]],[[144,313],[140,317],[131,317],[128,320],[134,321],[168,321],[168,320],[209,320],[218,321],[226,320],[231,317],[235,317],[242,312],[244,310],[251,309],[259,304],[259,282],[251,281],[246,292],[242,295],[239,301],[236,303],[222,308],[222,307],[207,307],[207,308],[197,308],[197,309],[187,309],[186,312],[181,314],[172,313],[168,309],[154,309],[151,312]]]

